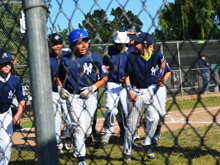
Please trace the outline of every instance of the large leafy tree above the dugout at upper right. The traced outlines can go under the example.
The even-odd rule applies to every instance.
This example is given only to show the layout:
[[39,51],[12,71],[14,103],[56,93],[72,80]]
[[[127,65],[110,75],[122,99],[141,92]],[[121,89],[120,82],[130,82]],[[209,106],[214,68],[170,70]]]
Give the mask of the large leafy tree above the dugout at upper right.
[[176,0],[158,12],[159,28],[153,33],[157,40],[212,39],[220,34],[219,0]]

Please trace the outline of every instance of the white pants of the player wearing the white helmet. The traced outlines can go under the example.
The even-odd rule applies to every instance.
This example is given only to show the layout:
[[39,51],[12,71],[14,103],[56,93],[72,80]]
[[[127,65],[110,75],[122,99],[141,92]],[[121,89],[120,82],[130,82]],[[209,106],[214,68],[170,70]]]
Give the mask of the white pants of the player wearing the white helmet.
[[114,131],[114,120],[118,114],[118,101],[122,104],[123,113],[127,116],[127,91],[121,83],[107,82],[106,84],[105,121],[103,127],[106,135],[111,135]]

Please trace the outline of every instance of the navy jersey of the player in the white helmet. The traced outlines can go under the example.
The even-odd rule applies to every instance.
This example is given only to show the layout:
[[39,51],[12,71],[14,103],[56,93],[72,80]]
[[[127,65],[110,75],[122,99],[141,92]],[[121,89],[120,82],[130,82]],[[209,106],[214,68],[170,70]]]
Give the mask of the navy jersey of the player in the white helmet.
[[104,56],[103,64],[109,66],[108,81],[120,82],[124,77],[125,64],[127,60],[127,53],[120,53],[115,46],[108,47],[108,56]]

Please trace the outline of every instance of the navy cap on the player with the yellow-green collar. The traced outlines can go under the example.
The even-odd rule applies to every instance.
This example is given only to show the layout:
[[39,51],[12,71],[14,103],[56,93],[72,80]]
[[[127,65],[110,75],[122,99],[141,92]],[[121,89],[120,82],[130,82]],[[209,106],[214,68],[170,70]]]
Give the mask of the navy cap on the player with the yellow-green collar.
[[154,37],[150,35],[149,33],[145,32],[139,32],[136,35],[129,35],[129,37],[136,41],[146,44],[147,46],[152,45],[153,43],[156,43],[156,40],[154,40]]

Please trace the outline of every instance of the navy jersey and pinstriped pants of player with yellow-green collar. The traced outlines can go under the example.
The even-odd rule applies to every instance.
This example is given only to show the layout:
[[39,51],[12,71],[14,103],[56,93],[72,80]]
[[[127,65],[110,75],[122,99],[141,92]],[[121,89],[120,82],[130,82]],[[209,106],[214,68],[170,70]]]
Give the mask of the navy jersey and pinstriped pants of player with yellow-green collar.
[[143,106],[145,107],[148,127],[146,138],[142,145],[151,145],[151,139],[154,136],[159,120],[157,101],[151,84],[158,78],[159,66],[164,60],[163,54],[149,50],[148,58],[131,52],[126,62],[125,72],[129,74],[132,92],[137,95],[138,99],[135,102],[128,100],[127,128],[123,146],[123,153],[125,155],[131,154],[132,140],[137,131],[137,123]]

